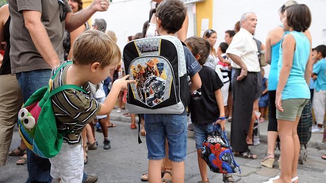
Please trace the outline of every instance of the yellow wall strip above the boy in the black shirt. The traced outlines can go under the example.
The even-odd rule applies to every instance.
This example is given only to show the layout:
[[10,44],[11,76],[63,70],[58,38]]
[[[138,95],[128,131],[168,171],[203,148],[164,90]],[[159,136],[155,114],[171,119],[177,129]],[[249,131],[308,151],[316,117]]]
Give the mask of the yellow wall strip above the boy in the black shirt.
[[209,19],[209,29],[213,25],[213,0],[196,3],[196,34],[201,37],[201,20]]

